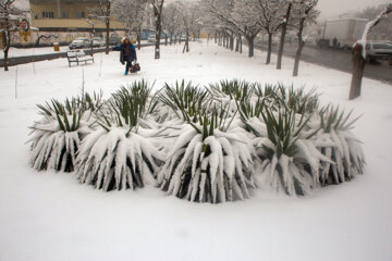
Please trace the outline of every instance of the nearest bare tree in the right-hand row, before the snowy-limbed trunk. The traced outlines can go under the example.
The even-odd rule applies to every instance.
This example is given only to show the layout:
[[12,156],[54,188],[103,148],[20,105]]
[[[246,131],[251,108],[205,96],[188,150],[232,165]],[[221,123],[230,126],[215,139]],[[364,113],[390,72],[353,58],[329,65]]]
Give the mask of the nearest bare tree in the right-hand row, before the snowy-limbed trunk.
[[316,23],[316,18],[320,14],[315,10],[317,2],[318,0],[301,0],[301,2],[294,4],[293,20],[296,22],[297,27],[298,48],[295,53],[293,76],[298,76],[301,53],[305,46],[304,28],[306,24]]

